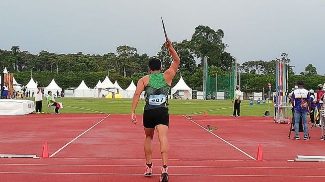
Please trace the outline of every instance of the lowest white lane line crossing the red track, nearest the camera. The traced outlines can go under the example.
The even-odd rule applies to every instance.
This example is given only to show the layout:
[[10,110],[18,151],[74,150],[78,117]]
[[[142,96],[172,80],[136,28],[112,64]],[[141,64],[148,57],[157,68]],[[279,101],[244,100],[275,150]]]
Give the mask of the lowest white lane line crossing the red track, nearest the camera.
[[[0,172],[0,174],[27,174],[27,175],[119,175],[119,176],[143,176],[139,173],[52,173],[52,172]],[[155,174],[155,176],[160,176]],[[214,174],[168,174],[168,176],[203,176],[203,177],[301,177],[301,178],[324,178],[325,176],[304,176],[304,175],[214,175]]]

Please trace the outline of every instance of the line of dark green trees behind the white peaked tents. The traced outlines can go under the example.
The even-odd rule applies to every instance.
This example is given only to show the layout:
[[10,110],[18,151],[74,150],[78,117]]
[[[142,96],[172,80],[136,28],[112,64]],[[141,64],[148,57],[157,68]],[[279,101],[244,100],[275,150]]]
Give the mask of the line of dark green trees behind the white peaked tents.
[[[180,76],[193,90],[202,91],[204,56],[209,56],[210,75],[214,77],[216,72],[219,76],[228,75],[234,64],[235,58],[226,51],[227,44],[222,39],[224,32],[221,29],[214,30],[208,26],[197,26],[191,40],[173,42],[173,46],[181,58],[179,72],[174,78],[173,85]],[[285,53],[279,59],[290,59]],[[162,45],[156,57],[162,62],[162,71],[169,68],[172,58],[166,46]],[[0,68],[14,73],[16,81],[22,85],[28,83],[31,72],[34,80],[43,86],[47,86],[52,78],[64,88],[78,87],[82,80],[93,88],[98,80],[108,75],[114,82],[125,89],[133,80],[135,83],[148,73],[148,61],[151,58],[147,54],[138,54],[135,47],[121,45],[115,52],[104,55],[90,55],[78,52],[75,54],[56,54],[42,50],[39,54],[31,54],[21,51],[19,46],[12,46],[10,50],[0,50]],[[196,60],[201,61],[196,64]],[[241,74],[242,91],[261,91],[267,88],[267,83],[275,85],[276,60],[247,61],[238,65]],[[317,74],[316,68],[309,64],[306,71],[295,75],[290,66],[289,85],[297,80],[304,80],[308,88],[316,88],[319,83],[325,83],[324,76]]]

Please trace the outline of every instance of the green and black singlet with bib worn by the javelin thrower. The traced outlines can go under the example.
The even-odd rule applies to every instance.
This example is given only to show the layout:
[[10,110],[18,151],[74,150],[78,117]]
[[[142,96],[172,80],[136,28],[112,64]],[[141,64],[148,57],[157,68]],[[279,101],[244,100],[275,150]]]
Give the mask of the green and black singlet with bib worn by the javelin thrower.
[[145,105],[144,110],[155,109],[159,107],[168,108],[168,93],[170,86],[164,79],[164,74],[153,73],[149,75],[149,83],[144,89]]

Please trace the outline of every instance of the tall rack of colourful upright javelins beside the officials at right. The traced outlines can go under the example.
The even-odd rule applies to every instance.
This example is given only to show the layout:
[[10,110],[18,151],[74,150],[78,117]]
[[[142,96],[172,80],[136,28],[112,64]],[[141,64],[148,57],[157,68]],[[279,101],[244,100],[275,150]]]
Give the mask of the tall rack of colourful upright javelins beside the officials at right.
[[289,65],[285,59],[281,59],[276,65],[276,94],[275,94],[275,114],[273,122],[288,123],[288,108],[290,107],[287,100],[288,91],[288,70]]

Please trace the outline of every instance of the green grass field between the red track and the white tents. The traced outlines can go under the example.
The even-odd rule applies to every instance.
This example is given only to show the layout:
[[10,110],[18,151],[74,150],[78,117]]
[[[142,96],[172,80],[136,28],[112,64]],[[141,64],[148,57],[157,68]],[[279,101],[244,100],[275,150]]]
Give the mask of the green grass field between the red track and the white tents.
[[[64,108],[61,113],[109,113],[109,114],[129,114],[131,111],[132,99],[107,99],[107,98],[56,98],[62,102]],[[144,100],[140,100],[136,113],[143,111]],[[43,98],[43,111],[47,111],[47,104]],[[249,100],[241,103],[240,115],[242,116],[262,116],[268,110],[268,103],[253,106],[249,105]],[[274,114],[273,103],[270,103],[270,115]],[[230,100],[169,100],[170,114],[203,114],[207,111],[208,115],[231,115],[233,103]],[[53,112],[53,111],[52,111]]]

